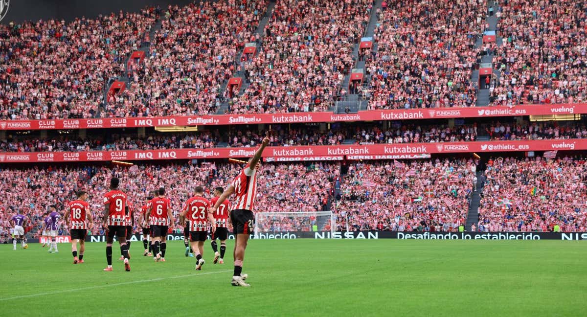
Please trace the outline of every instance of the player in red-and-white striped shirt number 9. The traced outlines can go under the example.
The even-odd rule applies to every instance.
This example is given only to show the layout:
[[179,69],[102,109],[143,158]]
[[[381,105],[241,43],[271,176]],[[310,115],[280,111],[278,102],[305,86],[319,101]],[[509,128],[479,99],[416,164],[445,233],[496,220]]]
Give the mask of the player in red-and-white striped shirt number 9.
[[130,271],[129,249],[126,245],[126,215],[127,197],[118,190],[120,180],[110,179],[110,191],[104,195],[104,216],[102,226],[106,230],[106,261],[108,266],[104,271],[112,271],[112,242],[114,235],[119,241],[120,251],[124,256],[124,270]]

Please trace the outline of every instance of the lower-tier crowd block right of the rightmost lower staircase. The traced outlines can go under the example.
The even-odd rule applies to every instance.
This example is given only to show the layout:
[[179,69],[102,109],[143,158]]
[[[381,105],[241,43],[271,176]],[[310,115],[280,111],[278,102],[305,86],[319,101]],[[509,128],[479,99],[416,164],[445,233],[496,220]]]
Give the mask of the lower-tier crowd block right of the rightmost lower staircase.
[[498,158],[485,171],[478,231],[587,230],[582,158]]

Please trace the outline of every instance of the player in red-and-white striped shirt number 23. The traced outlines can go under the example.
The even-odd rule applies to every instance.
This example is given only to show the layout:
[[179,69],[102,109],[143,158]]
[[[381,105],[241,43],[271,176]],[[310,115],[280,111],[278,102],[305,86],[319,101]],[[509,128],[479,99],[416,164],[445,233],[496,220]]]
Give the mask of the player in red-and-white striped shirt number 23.
[[205,261],[202,258],[204,255],[204,242],[208,235],[208,221],[212,225],[212,234],[216,230],[214,217],[208,213],[210,208],[210,201],[204,198],[204,188],[201,186],[195,187],[194,197],[191,197],[185,202],[184,208],[181,211],[180,221],[187,220],[190,227],[191,248],[195,253],[195,269],[200,271]]

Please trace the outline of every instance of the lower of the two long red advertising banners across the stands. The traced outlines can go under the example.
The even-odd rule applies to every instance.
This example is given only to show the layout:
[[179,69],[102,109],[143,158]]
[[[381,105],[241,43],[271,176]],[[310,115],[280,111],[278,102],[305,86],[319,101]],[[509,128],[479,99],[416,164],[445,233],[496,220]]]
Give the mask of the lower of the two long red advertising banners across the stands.
[[[268,147],[263,152],[263,156],[265,161],[336,161],[343,160],[345,156],[349,160],[379,160],[426,158],[429,154],[434,153],[552,150],[587,150],[587,139],[287,146]],[[251,157],[254,154],[255,149],[251,147],[87,152],[5,152],[0,153],[0,163],[184,160],[191,158]]]

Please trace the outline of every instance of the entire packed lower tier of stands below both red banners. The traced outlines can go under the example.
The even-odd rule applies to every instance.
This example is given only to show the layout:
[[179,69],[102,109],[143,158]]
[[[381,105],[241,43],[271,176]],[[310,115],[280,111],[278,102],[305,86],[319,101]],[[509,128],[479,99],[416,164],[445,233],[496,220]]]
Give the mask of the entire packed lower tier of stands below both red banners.
[[[556,154],[555,154],[556,156]],[[10,218],[21,213],[36,236],[49,205],[63,211],[77,191],[89,194],[95,224],[102,220],[102,199],[111,177],[129,195],[140,232],[141,206],[163,186],[176,217],[195,186],[227,187],[239,164],[200,163],[134,165],[131,167],[10,167],[0,170],[6,195],[0,206],[0,237],[11,235]],[[484,180],[487,181],[484,182]],[[475,217],[473,231],[586,231],[587,164],[582,157],[562,158],[431,158],[411,161],[355,163],[264,163],[258,174],[257,212],[332,211],[337,231],[458,231]],[[485,186],[483,186],[485,184]],[[471,214],[472,213],[472,214]],[[261,232],[329,231],[315,218],[273,217],[258,224]],[[467,230],[469,227],[467,227]],[[61,234],[68,234],[65,223]],[[102,228],[91,228],[102,234]]]

